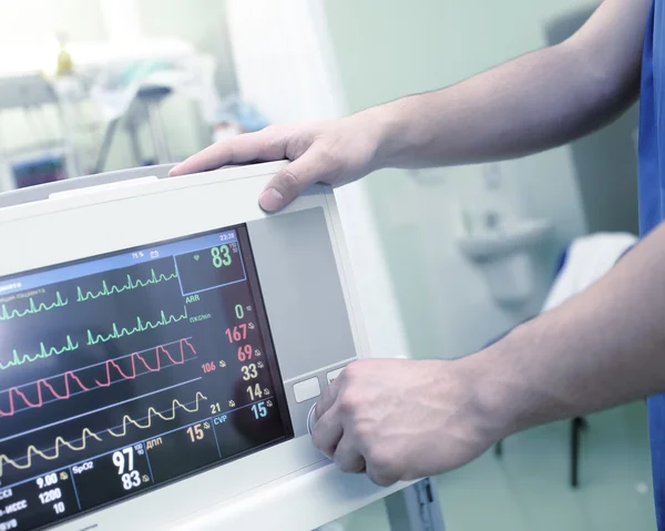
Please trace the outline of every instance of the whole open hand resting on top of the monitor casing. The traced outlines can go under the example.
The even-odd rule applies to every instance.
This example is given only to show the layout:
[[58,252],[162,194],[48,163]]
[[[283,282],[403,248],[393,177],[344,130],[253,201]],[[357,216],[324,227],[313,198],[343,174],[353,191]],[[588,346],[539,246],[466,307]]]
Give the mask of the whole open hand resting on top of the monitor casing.
[[272,125],[213,144],[176,165],[171,175],[287,159],[291,163],[275,175],[259,197],[260,206],[274,212],[314,183],[339,186],[375,170],[377,129],[365,114],[328,122]]

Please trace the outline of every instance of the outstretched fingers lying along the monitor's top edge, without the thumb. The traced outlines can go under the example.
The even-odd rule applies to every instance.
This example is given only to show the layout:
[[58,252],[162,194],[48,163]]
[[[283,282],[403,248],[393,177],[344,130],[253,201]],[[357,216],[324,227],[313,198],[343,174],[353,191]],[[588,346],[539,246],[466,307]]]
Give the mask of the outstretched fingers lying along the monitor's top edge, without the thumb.
[[286,135],[263,130],[217,142],[168,172],[171,176],[206,172],[228,164],[278,161],[286,155]]

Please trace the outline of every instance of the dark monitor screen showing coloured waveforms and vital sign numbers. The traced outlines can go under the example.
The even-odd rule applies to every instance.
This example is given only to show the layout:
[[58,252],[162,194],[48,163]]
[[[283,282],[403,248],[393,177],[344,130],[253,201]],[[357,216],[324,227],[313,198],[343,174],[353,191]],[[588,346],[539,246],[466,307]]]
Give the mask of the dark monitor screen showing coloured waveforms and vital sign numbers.
[[0,278],[0,531],[291,437],[244,225]]

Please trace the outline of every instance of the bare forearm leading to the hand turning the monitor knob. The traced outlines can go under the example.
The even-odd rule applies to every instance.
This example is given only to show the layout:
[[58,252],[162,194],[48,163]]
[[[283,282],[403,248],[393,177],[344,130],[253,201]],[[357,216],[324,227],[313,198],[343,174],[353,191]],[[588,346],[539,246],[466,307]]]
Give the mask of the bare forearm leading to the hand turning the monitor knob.
[[462,365],[498,437],[665,391],[665,225],[586,292]]

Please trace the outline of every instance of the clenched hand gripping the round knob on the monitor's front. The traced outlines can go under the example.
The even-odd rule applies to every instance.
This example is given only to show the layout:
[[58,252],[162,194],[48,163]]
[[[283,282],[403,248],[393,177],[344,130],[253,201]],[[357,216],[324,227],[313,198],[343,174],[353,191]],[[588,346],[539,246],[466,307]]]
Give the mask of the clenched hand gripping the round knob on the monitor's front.
[[460,467],[499,437],[484,429],[463,360],[348,366],[316,408],[315,446],[379,486]]

